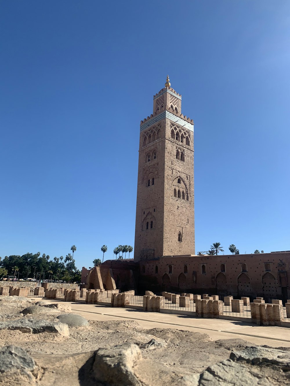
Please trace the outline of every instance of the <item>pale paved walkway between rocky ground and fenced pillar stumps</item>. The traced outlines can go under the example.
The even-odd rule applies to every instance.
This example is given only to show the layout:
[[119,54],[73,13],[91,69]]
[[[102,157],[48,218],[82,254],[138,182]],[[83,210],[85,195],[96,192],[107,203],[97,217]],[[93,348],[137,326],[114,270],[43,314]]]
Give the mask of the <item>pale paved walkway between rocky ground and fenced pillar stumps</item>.
[[176,328],[208,334],[213,340],[244,339],[252,344],[272,347],[290,347],[290,328],[257,326],[253,323],[235,320],[196,318],[188,315],[172,315],[157,312],[143,312],[131,308],[73,303],[72,311],[88,320],[136,320],[144,328]]

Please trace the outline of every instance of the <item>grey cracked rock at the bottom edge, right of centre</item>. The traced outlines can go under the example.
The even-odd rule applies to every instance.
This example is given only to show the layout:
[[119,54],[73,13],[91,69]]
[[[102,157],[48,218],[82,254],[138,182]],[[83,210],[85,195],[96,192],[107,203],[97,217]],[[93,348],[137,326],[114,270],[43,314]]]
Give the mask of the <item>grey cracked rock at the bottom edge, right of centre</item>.
[[247,366],[227,359],[209,366],[201,373],[199,386],[273,386],[266,378],[258,378]]

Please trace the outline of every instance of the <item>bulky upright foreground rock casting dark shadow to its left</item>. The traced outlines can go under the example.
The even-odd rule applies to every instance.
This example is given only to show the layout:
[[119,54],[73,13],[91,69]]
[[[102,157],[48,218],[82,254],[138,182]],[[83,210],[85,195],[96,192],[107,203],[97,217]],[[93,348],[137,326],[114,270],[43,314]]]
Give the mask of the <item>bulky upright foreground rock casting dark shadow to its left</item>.
[[141,358],[139,347],[133,343],[99,349],[93,365],[95,377],[110,386],[140,386],[133,366]]

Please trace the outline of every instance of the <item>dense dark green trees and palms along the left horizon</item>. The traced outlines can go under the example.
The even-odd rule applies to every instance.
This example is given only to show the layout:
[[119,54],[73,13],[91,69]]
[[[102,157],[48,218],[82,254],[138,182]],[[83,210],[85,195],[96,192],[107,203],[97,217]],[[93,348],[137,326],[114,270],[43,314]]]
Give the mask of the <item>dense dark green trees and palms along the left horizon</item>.
[[0,279],[5,276],[16,276],[17,279],[32,278],[36,280],[63,280],[80,281],[81,272],[75,266],[74,252],[75,245],[70,248],[72,251],[65,257],[54,257],[51,259],[45,253],[40,252],[0,257]]

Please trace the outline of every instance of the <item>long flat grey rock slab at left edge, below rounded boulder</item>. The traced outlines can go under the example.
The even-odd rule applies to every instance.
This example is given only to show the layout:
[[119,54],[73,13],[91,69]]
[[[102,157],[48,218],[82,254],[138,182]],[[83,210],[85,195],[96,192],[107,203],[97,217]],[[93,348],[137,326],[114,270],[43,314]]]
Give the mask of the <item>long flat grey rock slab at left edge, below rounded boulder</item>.
[[[40,308],[40,307],[39,307]],[[0,330],[18,330],[27,334],[39,334],[51,332],[68,336],[70,334],[68,325],[65,323],[48,322],[47,320],[16,319],[9,322],[0,322]]]

